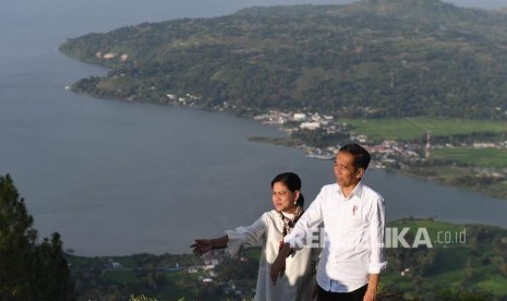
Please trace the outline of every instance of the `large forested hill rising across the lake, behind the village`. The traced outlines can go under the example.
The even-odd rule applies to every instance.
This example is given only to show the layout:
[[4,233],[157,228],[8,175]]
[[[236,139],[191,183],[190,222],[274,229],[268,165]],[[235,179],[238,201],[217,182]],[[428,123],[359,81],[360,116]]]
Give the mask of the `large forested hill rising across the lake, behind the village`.
[[[507,15],[437,0],[259,7],[71,38],[74,91],[238,113],[505,119]],[[180,99],[181,98],[181,99]]]

